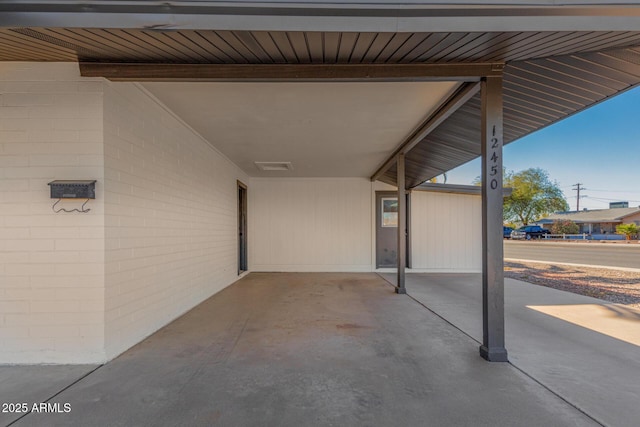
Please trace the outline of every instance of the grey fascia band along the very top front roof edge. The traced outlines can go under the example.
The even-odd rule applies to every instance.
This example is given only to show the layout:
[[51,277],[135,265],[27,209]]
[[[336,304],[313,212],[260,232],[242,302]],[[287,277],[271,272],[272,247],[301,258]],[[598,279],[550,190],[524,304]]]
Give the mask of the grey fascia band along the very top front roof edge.
[[55,1],[5,0],[0,27],[162,30],[485,32],[633,31],[640,2],[330,0]]

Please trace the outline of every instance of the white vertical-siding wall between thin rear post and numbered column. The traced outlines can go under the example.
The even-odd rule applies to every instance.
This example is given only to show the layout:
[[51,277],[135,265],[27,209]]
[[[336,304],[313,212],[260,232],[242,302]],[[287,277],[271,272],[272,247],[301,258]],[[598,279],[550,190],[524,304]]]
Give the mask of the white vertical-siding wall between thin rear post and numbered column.
[[414,191],[411,203],[413,270],[482,271],[480,196]]

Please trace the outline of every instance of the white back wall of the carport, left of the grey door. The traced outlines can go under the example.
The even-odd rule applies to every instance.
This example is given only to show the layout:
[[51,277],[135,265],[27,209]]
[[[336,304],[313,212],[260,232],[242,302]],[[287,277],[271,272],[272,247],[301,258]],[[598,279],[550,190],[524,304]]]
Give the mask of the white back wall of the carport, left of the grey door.
[[253,179],[252,271],[371,271],[371,182]]

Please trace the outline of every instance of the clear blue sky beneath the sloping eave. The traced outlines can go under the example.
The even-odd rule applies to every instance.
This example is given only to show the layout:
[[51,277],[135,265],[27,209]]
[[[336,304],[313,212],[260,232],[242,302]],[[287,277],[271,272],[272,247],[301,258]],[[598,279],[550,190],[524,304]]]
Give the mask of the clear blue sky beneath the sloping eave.
[[[582,183],[580,209],[606,209],[610,201],[640,206],[640,87],[627,91],[504,148],[510,171],[549,172],[576,209],[573,184]],[[471,184],[476,159],[447,173],[449,184]]]

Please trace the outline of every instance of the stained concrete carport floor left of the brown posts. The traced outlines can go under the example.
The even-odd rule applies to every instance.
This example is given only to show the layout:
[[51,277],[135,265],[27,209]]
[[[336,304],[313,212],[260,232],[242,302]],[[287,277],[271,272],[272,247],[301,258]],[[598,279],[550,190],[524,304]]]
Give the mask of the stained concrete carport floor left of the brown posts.
[[[46,399],[53,390],[25,387],[56,388],[47,367],[33,368],[1,368],[23,378],[2,381],[0,396]],[[90,368],[77,369],[61,378]],[[357,273],[250,274],[50,402],[71,412],[14,425],[597,425],[511,364],[482,360],[475,340],[380,276]]]

